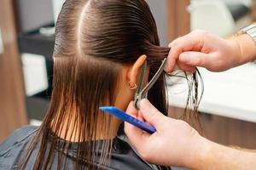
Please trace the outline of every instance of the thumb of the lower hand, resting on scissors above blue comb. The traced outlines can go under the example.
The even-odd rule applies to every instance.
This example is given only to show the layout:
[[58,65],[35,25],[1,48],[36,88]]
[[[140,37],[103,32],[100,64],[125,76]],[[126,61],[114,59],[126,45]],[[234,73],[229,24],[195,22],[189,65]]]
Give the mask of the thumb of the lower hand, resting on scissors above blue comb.
[[154,105],[152,105],[148,99],[142,99],[140,103],[140,113],[143,118],[152,124],[154,127],[159,128],[161,126],[162,120],[165,116],[158,111]]

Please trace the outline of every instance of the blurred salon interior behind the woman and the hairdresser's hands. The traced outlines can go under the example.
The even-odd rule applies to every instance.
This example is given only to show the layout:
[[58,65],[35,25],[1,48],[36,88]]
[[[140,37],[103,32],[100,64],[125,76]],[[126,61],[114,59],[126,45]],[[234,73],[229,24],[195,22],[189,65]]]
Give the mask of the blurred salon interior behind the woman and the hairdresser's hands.
[[[162,46],[196,29],[230,37],[256,19],[256,0],[146,1]],[[55,21],[62,3],[0,1],[0,143],[16,128],[39,125],[48,109]],[[204,134],[220,144],[255,149],[256,65],[248,63],[222,73],[200,71]],[[186,104],[186,82],[170,79],[167,84],[170,114],[180,116]]]

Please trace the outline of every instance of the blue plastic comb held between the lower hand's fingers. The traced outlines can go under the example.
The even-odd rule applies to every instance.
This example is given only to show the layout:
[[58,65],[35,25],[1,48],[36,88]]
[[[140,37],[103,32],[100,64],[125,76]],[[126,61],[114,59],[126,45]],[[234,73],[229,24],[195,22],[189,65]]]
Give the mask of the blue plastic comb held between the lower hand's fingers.
[[108,112],[110,115],[116,116],[116,117],[118,117],[119,119],[121,119],[125,122],[129,122],[132,125],[141,128],[143,131],[145,131],[147,133],[152,134],[152,133],[156,132],[156,129],[153,126],[148,125],[148,123],[141,122],[137,118],[128,115],[127,113],[125,113],[125,111],[120,111],[116,107],[103,106],[103,107],[100,107],[100,110],[102,110],[104,112]]

